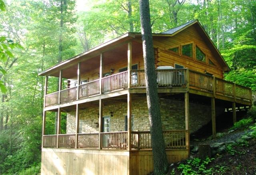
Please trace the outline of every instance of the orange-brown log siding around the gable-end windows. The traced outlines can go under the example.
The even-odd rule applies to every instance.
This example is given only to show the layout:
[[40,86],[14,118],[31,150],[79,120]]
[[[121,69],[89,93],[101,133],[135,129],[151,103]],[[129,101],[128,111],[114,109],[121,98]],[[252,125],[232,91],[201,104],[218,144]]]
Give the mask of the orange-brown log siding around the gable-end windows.
[[[180,54],[181,45],[189,43],[194,44],[193,50],[195,50],[195,46],[198,46],[200,50],[206,54],[206,62],[196,60],[195,54],[193,54],[193,58],[182,56]],[[173,48],[175,46],[180,46],[179,53],[168,51],[168,48]],[[172,37],[154,37],[154,47],[157,47],[160,50],[158,66],[174,67],[174,64],[180,64],[184,66],[184,68],[189,68],[201,73],[204,73],[206,70],[217,78],[223,78],[222,68],[218,63],[216,56],[196,31],[194,26],[190,26],[186,30]],[[208,59],[210,59],[215,66],[208,64]]]

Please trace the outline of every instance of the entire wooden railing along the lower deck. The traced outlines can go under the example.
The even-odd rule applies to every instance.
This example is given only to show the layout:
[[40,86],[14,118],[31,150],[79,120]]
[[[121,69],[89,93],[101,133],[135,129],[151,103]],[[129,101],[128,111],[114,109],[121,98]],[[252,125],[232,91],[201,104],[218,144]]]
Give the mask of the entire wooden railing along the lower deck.
[[[166,149],[186,149],[187,130],[163,131]],[[99,148],[99,133],[78,133],[43,135],[43,147],[75,148],[77,135],[77,148]],[[128,132],[100,133],[102,149],[127,149]],[[152,149],[150,131],[132,131],[132,149]]]

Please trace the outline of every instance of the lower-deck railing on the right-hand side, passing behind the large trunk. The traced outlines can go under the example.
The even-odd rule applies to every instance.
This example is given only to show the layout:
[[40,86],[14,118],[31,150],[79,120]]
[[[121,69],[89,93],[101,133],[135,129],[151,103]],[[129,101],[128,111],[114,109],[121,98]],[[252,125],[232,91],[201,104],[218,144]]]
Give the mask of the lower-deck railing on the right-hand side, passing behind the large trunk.
[[[166,149],[186,149],[187,130],[163,131]],[[150,131],[132,131],[132,147],[152,149]]]

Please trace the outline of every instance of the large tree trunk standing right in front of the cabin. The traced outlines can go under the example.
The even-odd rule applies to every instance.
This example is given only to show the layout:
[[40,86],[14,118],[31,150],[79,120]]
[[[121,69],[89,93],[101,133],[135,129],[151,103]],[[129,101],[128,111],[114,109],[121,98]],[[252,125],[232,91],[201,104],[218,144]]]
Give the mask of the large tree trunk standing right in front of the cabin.
[[148,0],[140,0],[139,2],[148,117],[150,122],[150,133],[152,139],[151,143],[154,160],[154,174],[159,175],[166,173],[168,169],[168,161],[165,152],[162,121],[158,101],[149,2]]

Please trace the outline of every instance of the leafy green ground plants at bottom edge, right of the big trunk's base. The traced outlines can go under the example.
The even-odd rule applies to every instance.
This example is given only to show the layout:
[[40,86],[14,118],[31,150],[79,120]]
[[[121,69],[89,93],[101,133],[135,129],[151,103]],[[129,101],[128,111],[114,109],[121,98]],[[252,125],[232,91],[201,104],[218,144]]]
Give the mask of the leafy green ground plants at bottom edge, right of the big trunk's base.
[[197,175],[200,173],[203,174],[212,174],[212,169],[207,169],[206,165],[212,162],[214,158],[206,157],[205,160],[201,160],[199,158],[187,159],[186,164],[181,163],[178,166],[178,170],[182,171],[181,174],[184,175]]

